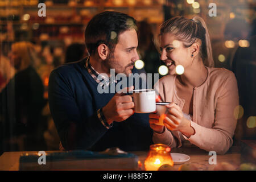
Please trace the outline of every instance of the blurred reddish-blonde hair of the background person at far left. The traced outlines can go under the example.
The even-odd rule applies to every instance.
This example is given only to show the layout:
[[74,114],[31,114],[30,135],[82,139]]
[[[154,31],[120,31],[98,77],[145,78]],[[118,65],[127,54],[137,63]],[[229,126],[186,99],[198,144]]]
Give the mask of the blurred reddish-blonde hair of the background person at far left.
[[11,49],[15,51],[21,59],[19,71],[26,69],[28,66],[34,66],[35,48],[30,42],[15,42],[11,46]]

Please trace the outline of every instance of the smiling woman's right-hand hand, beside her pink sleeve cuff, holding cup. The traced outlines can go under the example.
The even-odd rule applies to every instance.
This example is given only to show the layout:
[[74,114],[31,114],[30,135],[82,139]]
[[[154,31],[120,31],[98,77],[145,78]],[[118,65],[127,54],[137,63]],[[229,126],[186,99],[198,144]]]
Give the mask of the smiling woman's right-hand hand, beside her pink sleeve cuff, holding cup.
[[184,130],[190,127],[190,121],[184,118],[183,112],[174,102],[166,105],[168,113],[164,117],[164,126],[169,130]]

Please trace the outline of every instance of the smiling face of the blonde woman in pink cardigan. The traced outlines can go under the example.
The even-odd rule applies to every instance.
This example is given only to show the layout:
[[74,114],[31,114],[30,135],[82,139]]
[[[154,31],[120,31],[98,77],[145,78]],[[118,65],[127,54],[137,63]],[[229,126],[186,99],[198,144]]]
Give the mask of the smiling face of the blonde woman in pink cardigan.
[[170,75],[175,75],[177,65],[182,65],[184,71],[191,65],[190,49],[186,48],[175,35],[165,33],[160,36],[160,60],[162,60],[169,69]]

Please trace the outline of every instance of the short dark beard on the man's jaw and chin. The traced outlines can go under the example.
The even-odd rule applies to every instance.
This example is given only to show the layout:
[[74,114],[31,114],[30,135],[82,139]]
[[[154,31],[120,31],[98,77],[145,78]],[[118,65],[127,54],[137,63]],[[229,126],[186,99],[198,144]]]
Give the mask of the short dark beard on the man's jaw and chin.
[[119,63],[118,60],[115,59],[114,53],[110,53],[109,56],[107,57],[106,61],[104,61],[105,67],[109,69],[115,69],[115,73],[124,73],[126,76],[129,75],[129,69],[131,65],[134,65],[133,63],[130,63],[123,67],[122,64]]

